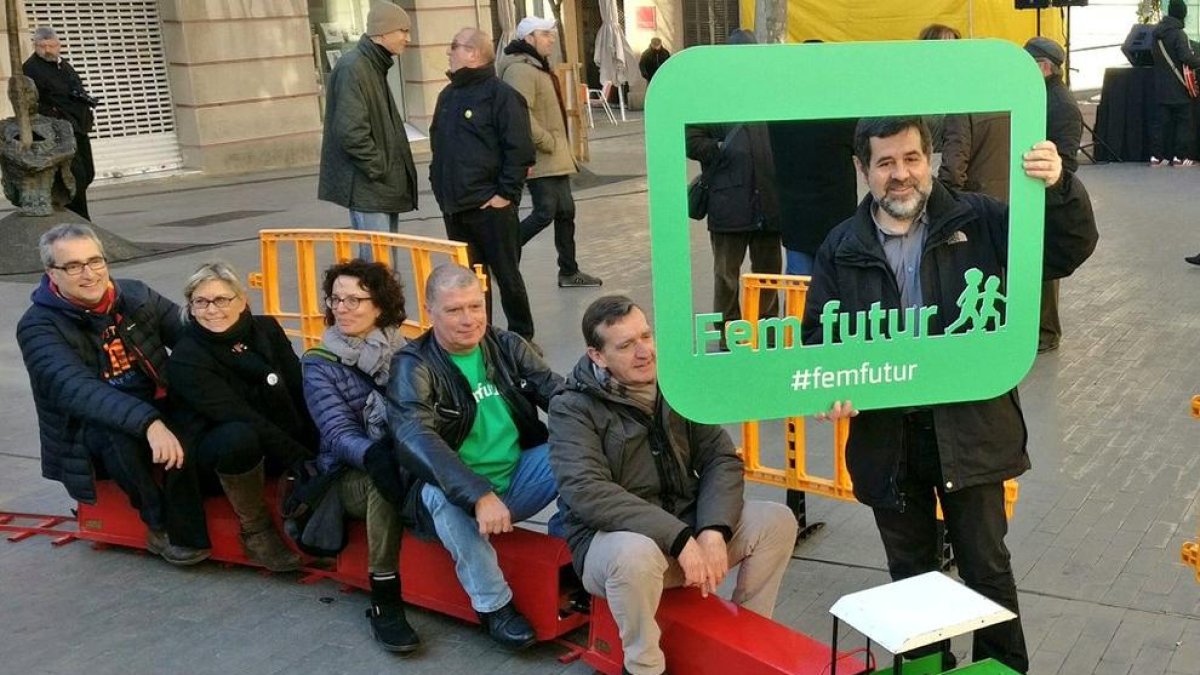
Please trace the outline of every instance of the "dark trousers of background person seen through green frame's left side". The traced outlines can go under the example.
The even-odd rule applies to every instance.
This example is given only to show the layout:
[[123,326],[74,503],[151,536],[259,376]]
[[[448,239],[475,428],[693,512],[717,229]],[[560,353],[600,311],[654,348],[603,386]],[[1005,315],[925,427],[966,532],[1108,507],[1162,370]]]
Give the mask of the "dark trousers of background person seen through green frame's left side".
[[[713,243],[713,311],[725,321],[742,318],[742,262],[750,251],[750,271],[780,274],[784,250],[778,232],[709,232]],[[758,316],[779,316],[779,293],[758,293]]]

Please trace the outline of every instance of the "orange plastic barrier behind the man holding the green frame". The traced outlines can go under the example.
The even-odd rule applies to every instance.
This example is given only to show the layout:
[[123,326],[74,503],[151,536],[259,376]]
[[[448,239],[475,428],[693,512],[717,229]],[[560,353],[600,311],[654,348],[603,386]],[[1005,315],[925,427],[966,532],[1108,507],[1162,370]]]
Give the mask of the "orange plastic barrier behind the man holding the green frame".
[[[782,294],[781,316],[804,316],[804,300],[808,295],[808,276],[786,276],[780,274],[743,274],[742,275],[742,316],[755,323],[760,307],[768,293]],[[751,330],[751,344],[757,347],[757,330]],[[782,336],[784,346],[798,342],[799,335],[792,335],[788,329]],[[808,471],[805,453],[804,418],[788,417],[784,420],[786,441],[784,468],[766,466],[762,460],[761,422],[742,423],[742,448],[739,453],[745,462],[745,477],[755,483],[764,483],[785,490],[812,492],[847,502],[854,498],[854,484],[846,470],[846,441],[850,438],[850,420],[841,419],[833,430],[833,476],[814,476]],[[1020,494],[1016,480],[1004,482],[1004,513],[1013,518],[1013,509]],[[938,509],[941,518],[941,509]]]

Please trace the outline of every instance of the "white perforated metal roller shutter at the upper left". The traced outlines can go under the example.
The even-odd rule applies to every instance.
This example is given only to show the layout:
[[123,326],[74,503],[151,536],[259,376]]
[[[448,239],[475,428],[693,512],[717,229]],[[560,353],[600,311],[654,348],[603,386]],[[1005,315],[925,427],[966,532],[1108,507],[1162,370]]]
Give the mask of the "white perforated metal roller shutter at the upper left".
[[156,0],[25,0],[29,25],[48,25],[84,88],[100,98],[96,178],[182,166]]

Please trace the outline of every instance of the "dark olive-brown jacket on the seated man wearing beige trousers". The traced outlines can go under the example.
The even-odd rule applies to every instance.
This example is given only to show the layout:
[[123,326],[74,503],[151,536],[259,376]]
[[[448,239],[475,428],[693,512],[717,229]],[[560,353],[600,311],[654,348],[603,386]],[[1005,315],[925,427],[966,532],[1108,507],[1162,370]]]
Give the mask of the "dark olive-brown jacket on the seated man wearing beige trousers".
[[580,574],[598,531],[644,534],[674,557],[701,530],[728,540],[742,519],[743,466],[730,435],[684,419],[661,396],[652,418],[605,388],[587,356],[550,404],[550,465]]

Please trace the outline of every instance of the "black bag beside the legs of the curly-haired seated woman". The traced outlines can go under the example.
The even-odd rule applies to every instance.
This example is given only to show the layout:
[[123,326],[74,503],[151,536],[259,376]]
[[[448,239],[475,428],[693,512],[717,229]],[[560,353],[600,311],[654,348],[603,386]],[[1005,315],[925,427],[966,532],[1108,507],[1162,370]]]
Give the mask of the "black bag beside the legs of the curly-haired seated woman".
[[[336,491],[344,467],[322,473],[316,460],[299,461],[280,480],[283,531],[296,546],[317,557],[334,557],[346,548],[346,524]],[[324,516],[313,518],[318,513]]]

